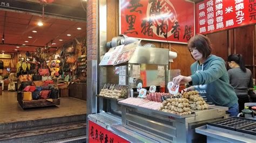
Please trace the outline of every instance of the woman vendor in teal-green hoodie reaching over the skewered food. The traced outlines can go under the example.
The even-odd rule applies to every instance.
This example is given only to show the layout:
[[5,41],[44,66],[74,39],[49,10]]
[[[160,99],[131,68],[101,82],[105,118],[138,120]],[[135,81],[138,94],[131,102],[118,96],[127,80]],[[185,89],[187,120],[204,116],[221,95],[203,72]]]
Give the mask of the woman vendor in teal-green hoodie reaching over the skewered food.
[[196,60],[190,67],[192,75],[174,77],[174,84],[190,83],[192,86],[184,91],[198,90],[201,96],[206,96],[207,102],[226,106],[230,116],[237,116],[238,98],[228,80],[225,61],[211,55],[210,40],[198,34],[190,39],[187,47],[193,59]]

